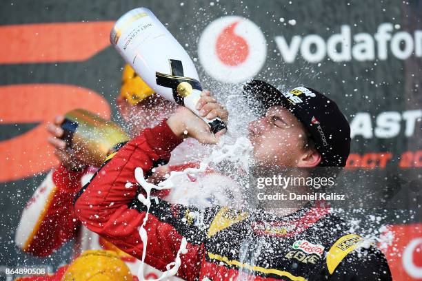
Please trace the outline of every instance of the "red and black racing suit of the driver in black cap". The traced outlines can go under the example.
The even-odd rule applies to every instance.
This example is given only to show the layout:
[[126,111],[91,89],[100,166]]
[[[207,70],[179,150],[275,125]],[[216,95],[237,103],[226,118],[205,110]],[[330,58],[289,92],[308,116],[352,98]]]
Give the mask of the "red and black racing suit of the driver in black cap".
[[[170,158],[181,140],[165,121],[123,146],[75,197],[74,209],[88,229],[130,255],[141,258],[139,236],[146,207],[134,169],[144,175]],[[363,238],[348,233],[343,220],[322,205],[303,207],[289,216],[227,207],[195,209],[151,200],[145,225],[145,262],[164,271],[174,262],[181,239],[177,275],[185,280],[391,280],[385,257]]]

